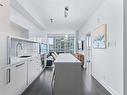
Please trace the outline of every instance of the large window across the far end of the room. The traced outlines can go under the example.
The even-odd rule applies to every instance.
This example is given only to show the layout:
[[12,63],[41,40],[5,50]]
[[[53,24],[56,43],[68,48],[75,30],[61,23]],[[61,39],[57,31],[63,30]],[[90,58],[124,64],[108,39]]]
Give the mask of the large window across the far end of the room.
[[49,51],[59,53],[74,53],[74,36],[49,36],[48,37]]

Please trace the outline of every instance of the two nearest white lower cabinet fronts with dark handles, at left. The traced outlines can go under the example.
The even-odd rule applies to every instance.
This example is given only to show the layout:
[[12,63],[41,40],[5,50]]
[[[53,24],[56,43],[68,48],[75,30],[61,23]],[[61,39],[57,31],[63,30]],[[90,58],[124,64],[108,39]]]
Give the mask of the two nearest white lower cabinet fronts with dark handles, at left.
[[26,87],[26,61],[0,70],[0,95],[20,95]]

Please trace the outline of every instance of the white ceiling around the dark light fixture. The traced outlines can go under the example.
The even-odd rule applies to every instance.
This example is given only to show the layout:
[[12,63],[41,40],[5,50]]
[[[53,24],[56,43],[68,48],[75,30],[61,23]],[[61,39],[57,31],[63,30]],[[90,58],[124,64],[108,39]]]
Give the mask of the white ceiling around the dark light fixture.
[[[38,13],[47,30],[78,30],[104,0],[28,0]],[[68,17],[64,8],[69,7]],[[51,23],[50,19],[54,19]]]

